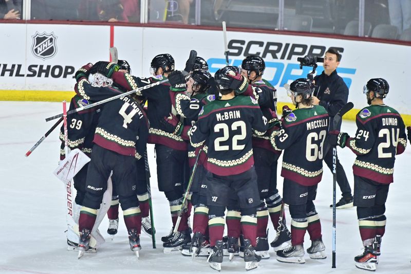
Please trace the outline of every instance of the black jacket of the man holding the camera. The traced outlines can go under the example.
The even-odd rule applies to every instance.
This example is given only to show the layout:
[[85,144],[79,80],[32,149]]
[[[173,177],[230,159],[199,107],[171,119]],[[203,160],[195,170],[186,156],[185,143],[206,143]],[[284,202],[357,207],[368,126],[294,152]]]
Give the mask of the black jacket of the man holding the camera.
[[348,101],[348,87],[343,78],[334,70],[330,76],[325,72],[314,77],[314,96],[320,99],[320,105],[324,106],[330,117],[334,117],[341,107]]

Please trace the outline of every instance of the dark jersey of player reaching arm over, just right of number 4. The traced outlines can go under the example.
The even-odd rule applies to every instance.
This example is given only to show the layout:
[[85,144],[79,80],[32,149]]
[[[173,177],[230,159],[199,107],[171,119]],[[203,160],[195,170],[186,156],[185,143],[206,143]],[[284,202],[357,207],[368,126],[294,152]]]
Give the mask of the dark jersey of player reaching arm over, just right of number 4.
[[[123,72],[116,71],[111,76],[114,82],[126,90],[133,90],[139,87],[164,80],[164,77],[139,78]],[[173,92],[170,91],[169,83],[162,83],[152,88],[141,90],[136,93],[147,98],[147,117],[150,121],[149,143],[159,143],[175,150],[186,150],[187,143],[175,134],[164,131],[161,120],[170,115],[177,114],[172,109]]]

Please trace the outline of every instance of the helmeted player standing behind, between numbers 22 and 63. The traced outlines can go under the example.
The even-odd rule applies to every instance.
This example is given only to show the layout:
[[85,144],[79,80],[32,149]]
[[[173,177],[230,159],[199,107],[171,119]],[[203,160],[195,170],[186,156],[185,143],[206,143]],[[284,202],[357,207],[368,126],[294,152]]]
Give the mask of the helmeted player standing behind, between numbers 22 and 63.
[[[241,75],[245,77],[254,88],[254,94],[264,116],[268,119],[276,119],[277,95],[276,89],[263,79],[266,64],[263,58],[251,55],[242,60]],[[258,191],[260,193],[260,205],[257,207],[257,246],[256,254],[263,259],[269,259],[268,253],[268,215],[270,215],[274,230],[277,231],[283,199],[277,190],[277,160],[281,151],[274,150],[270,135],[274,127],[263,136],[253,135],[253,156],[255,171],[257,173]],[[283,218],[285,222],[285,218]],[[282,234],[280,236],[280,233]],[[279,230],[275,240],[271,243],[274,251],[288,246],[290,232],[284,224],[284,229]]]

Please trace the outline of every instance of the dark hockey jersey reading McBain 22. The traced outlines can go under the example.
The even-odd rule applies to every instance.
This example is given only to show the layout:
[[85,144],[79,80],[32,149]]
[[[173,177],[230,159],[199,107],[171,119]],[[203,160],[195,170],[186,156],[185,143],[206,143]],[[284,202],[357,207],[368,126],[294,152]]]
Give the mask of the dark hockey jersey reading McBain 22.
[[264,134],[267,119],[257,100],[236,96],[204,105],[189,135],[194,148],[203,144],[207,148],[206,169],[228,176],[245,172],[254,165],[253,130],[258,135]]

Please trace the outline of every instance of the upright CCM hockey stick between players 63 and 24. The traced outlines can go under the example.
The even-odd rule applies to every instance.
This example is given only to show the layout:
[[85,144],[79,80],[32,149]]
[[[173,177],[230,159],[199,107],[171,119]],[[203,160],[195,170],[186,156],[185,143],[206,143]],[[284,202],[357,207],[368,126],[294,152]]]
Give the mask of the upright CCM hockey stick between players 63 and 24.
[[[351,108],[354,107],[354,104],[351,102],[346,103],[340,111],[335,114],[332,126],[330,125],[330,131],[338,129],[338,125],[341,122],[342,117],[346,114]],[[325,154],[324,154],[325,155]],[[335,268],[335,221],[336,216],[335,213],[337,211],[335,202],[337,199],[337,146],[332,146],[332,266],[331,268]]]

